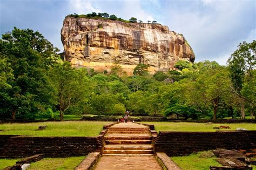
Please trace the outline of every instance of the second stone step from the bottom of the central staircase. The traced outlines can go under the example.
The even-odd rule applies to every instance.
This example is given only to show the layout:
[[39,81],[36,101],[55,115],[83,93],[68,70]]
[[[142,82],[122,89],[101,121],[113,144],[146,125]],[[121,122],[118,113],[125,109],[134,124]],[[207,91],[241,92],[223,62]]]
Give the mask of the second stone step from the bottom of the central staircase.
[[152,145],[105,145],[104,150],[152,150]]

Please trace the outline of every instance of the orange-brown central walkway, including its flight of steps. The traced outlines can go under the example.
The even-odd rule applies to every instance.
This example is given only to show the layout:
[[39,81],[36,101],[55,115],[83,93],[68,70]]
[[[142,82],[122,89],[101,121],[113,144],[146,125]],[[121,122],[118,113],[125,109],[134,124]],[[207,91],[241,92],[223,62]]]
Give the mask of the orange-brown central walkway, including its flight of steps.
[[136,123],[119,123],[109,127],[103,156],[96,165],[102,169],[162,169],[153,155],[150,129]]

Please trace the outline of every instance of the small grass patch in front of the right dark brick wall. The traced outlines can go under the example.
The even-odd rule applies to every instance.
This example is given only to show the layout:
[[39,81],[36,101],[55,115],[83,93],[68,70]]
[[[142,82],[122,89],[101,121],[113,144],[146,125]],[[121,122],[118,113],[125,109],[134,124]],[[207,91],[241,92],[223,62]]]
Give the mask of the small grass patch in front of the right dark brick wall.
[[221,166],[216,160],[213,158],[199,158],[199,155],[203,152],[199,152],[197,154],[191,154],[184,157],[171,157],[171,159],[178,164],[181,169],[186,170],[198,170],[198,169],[210,169],[210,166]]

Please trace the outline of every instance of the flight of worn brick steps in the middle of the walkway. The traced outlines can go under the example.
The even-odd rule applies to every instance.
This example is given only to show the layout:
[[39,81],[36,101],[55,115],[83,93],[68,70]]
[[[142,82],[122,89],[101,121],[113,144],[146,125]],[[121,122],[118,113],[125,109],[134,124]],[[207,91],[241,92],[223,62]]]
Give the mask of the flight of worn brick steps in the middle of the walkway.
[[151,143],[152,135],[148,127],[109,127],[105,134],[103,155],[153,155]]

